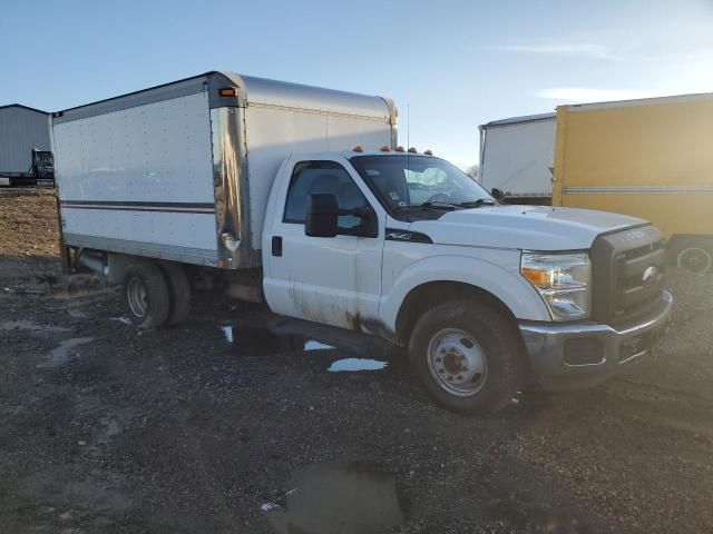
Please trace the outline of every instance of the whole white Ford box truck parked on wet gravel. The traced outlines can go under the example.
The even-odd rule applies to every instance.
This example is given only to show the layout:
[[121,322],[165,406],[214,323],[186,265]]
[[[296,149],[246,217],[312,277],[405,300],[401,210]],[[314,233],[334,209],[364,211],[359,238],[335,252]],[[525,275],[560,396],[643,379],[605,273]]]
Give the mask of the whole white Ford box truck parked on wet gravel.
[[67,266],[123,284],[141,327],[184,320],[209,279],[375,336],[465,413],[645,359],[672,303],[656,228],[500,205],[395,128],[388,99],[228,72],[57,112]]

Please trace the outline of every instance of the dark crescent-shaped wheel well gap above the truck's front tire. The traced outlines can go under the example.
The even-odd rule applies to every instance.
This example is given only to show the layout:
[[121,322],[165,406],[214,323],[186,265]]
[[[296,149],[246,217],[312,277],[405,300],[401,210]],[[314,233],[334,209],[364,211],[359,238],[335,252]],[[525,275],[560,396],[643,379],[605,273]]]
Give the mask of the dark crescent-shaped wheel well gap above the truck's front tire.
[[515,316],[502,300],[485,289],[460,281],[429,281],[414,287],[403,299],[397,316],[397,338],[408,344],[416,322],[428,309],[451,300],[479,300],[500,312],[504,317],[515,320]]

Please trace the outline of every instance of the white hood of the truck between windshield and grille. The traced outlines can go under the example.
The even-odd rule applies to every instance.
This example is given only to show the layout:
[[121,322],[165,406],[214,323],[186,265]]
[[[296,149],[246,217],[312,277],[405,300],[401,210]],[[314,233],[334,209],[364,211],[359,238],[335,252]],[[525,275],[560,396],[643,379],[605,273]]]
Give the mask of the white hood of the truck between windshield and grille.
[[544,206],[482,206],[449,211],[437,220],[419,220],[411,230],[440,245],[529,250],[588,249],[599,234],[648,221],[590,209]]

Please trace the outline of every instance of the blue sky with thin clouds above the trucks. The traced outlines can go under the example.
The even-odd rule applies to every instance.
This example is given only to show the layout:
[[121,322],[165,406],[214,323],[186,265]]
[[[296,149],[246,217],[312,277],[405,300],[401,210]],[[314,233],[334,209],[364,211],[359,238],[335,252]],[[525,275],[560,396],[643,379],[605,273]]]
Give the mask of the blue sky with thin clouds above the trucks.
[[20,1],[0,105],[57,110],[207,70],[391,97],[406,145],[467,166],[477,126],[713,91],[713,0]]

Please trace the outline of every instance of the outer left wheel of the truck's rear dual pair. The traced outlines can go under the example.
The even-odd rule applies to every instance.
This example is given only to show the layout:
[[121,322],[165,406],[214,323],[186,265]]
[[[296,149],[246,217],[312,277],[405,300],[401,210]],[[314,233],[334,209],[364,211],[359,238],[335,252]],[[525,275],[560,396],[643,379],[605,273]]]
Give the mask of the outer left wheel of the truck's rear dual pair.
[[156,328],[168,319],[168,285],[154,264],[131,265],[124,277],[124,301],[131,323],[139,328]]

